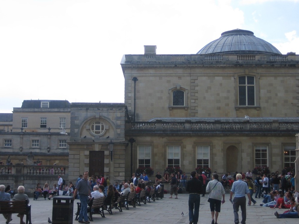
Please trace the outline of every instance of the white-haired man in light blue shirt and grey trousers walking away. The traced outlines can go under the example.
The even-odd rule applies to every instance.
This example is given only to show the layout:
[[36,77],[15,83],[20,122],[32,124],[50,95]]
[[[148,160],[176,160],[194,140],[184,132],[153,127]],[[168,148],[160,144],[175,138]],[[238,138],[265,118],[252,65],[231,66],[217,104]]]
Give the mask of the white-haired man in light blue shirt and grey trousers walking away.
[[248,205],[251,205],[251,198],[250,198],[250,191],[248,189],[247,183],[242,181],[242,174],[237,174],[236,175],[236,180],[232,187],[231,187],[231,194],[229,197],[229,200],[232,200],[233,194],[234,200],[233,200],[233,209],[234,209],[234,217],[235,217],[235,224],[239,223],[239,207],[241,207],[242,211],[242,220],[241,223],[245,224],[246,222],[246,197],[245,195],[247,194],[248,196]]

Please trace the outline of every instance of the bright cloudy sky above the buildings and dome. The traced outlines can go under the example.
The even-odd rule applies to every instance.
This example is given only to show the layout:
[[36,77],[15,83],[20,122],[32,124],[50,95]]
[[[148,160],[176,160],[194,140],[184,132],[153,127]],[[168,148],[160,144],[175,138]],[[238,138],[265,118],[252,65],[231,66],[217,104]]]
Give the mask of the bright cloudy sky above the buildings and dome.
[[0,113],[23,100],[124,102],[124,54],[195,54],[251,30],[299,54],[299,0],[0,0]]

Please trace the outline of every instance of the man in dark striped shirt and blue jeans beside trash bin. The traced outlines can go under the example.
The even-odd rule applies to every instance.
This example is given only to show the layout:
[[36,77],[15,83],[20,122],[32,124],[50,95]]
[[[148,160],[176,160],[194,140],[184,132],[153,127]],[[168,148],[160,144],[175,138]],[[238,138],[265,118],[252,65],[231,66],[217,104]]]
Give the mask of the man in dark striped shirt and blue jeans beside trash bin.
[[[91,197],[90,193],[90,187],[88,182],[88,171],[85,171],[83,173],[83,178],[79,180],[78,184],[76,185],[76,189],[74,191],[74,200],[76,199],[77,193],[80,194],[80,202],[81,202],[81,210],[79,214],[79,223],[90,223],[88,221],[87,216],[87,202],[88,202],[88,196]],[[84,218],[84,221],[83,221]]]

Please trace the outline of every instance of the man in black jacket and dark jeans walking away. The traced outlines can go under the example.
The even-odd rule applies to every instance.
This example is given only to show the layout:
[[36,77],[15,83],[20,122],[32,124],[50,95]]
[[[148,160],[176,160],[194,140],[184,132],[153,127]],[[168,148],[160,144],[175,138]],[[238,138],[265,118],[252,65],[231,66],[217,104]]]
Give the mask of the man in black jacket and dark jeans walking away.
[[202,182],[199,179],[197,179],[196,176],[196,171],[192,171],[192,179],[187,181],[186,186],[186,191],[189,192],[189,224],[197,224],[198,222],[200,194],[202,193]]

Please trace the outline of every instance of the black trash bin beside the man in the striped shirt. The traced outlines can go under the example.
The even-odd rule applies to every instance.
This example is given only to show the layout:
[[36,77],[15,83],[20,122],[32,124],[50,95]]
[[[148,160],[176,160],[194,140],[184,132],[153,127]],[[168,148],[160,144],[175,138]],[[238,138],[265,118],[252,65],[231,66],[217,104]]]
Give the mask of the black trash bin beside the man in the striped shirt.
[[74,198],[70,196],[53,197],[53,224],[73,224]]

